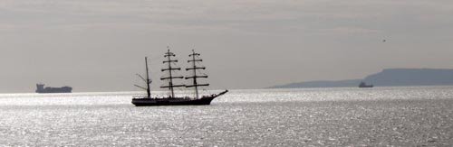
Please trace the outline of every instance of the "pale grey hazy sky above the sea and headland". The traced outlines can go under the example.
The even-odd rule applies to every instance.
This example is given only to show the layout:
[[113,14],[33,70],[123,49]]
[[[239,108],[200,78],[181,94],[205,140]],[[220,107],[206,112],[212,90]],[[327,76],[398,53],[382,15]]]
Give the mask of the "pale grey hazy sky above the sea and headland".
[[199,51],[212,88],[451,69],[453,1],[1,0],[0,92],[139,90],[144,56],[159,87],[167,46],[181,67]]

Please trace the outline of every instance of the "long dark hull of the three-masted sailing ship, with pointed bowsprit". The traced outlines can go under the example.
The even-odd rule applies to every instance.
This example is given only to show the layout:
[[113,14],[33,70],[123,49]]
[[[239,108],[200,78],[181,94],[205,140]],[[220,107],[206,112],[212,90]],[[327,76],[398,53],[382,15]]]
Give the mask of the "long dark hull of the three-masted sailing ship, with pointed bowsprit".
[[134,106],[207,106],[217,96],[221,96],[228,92],[227,90],[211,96],[202,96],[199,99],[191,99],[184,97],[170,97],[170,98],[133,98],[132,104]]

